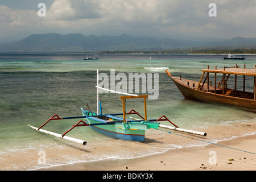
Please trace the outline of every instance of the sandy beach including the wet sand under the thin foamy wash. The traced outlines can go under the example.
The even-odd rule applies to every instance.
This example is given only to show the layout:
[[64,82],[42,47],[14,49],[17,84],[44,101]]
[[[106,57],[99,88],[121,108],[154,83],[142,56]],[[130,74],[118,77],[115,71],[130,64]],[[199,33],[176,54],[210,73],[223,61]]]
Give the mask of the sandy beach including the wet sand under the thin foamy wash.
[[[88,146],[67,143],[56,139],[57,146],[44,148],[46,163],[58,164],[54,167],[43,166],[38,163],[40,155],[38,148],[26,151],[0,154],[0,169],[10,170],[41,170],[41,171],[255,171],[256,170],[256,123],[232,123],[222,127],[213,126],[201,129],[207,132],[207,137],[179,132],[163,133],[161,131],[147,135],[145,142],[122,141],[111,139],[104,143],[89,143]],[[159,135],[161,133],[161,135]],[[240,137],[233,137],[233,135]],[[216,144],[205,142],[216,138],[222,142]],[[201,142],[200,140],[204,141]],[[137,150],[158,147],[158,144],[176,144],[176,148],[131,159],[101,159],[89,162],[72,162],[69,158],[86,158],[109,152],[126,151],[132,154]],[[183,147],[179,144],[183,143]],[[189,144],[186,147],[186,143]],[[104,145],[105,144],[105,145]],[[137,147],[134,147],[137,144]],[[195,146],[191,146],[195,144]],[[111,147],[106,147],[111,146]],[[67,158],[68,156],[68,158]],[[65,160],[67,163],[65,164]],[[64,162],[64,165],[63,165]]]

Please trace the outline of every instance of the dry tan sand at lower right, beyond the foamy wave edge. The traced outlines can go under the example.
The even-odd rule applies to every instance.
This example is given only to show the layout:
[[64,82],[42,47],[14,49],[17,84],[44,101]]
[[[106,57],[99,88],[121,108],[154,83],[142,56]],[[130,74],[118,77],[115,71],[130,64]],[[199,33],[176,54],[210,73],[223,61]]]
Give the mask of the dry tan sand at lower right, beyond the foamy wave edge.
[[[241,148],[256,154],[256,135],[241,137],[218,144]],[[216,152],[216,164],[211,160]],[[95,163],[78,163],[41,170],[93,170],[93,171],[255,171],[255,154],[209,144],[205,147],[188,147],[164,154],[139,159],[106,160]],[[210,160],[210,163],[209,163]]]

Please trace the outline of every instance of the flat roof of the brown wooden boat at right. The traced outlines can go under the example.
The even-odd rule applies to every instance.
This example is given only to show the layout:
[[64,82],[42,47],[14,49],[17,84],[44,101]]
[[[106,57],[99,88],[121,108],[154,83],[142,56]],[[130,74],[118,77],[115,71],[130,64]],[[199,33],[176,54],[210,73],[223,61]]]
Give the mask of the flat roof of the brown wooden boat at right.
[[247,69],[247,68],[202,69],[202,72],[256,76],[256,69]]

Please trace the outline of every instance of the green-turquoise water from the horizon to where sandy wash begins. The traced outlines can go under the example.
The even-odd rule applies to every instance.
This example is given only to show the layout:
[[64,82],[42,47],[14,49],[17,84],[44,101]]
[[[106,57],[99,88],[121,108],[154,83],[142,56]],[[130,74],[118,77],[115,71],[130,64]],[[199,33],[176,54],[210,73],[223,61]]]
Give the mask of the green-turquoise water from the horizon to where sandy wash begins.
[[[115,74],[159,74],[159,87],[168,80],[164,72],[199,80],[201,69],[210,67],[246,64],[254,68],[256,56],[236,63],[221,59],[222,55],[99,55],[98,61],[85,61],[82,54],[1,54],[0,55],[0,154],[38,147],[40,144],[56,143],[51,137],[32,131],[27,125],[39,127],[53,114],[60,117],[81,115],[80,107],[96,111],[96,70],[110,76]],[[151,59],[150,59],[151,57]],[[118,82],[118,81],[116,81]],[[253,89],[247,86],[248,90]],[[117,94],[100,94],[103,113],[122,113],[122,104]],[[127,102],[127,111],[143,113],[143,101]],[[179,127],[209,127],[227,122],[246,122],[255,119],[255,113],[222,105],[205,104],[184,99],[173,82],[159,89],[157,100],[147,101],[148,118],[166,115]],[[77,119],[52,121],[44,129],[64,133]],[[148,131],[149,133],[151,131]],[[86,140],[104,140],[105,136],[89,128],[72,131],[72,137]]]

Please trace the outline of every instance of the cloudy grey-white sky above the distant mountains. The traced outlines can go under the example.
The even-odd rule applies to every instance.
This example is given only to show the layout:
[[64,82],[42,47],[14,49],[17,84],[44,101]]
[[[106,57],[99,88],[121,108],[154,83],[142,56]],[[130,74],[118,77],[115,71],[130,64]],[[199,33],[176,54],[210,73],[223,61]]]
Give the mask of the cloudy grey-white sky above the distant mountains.
[[46,33],[255,38],[256,0],[0,0],[0,38]]

